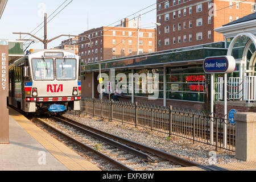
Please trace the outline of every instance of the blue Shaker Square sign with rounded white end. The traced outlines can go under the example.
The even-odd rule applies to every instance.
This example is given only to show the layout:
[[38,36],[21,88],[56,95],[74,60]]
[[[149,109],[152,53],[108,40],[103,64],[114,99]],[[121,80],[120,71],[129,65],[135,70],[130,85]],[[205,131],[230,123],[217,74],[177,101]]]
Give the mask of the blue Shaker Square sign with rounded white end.
[[236,68],[233,56],[207,57],[204,60],[205,73],[232,73]]

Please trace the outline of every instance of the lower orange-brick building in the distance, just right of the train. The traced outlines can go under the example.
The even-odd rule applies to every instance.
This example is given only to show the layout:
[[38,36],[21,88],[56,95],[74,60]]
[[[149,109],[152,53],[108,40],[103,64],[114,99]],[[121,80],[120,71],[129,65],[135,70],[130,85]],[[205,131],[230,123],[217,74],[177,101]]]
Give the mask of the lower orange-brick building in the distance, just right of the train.
[[[92,47],[86,38],[79,39],[79,56],[83,63],[118,57],[137,55],[138,21],[122,20],[119,26],[100,27],[80,35],[92,40]],[[139,54],[155,52],[155,30],[139,29]]]

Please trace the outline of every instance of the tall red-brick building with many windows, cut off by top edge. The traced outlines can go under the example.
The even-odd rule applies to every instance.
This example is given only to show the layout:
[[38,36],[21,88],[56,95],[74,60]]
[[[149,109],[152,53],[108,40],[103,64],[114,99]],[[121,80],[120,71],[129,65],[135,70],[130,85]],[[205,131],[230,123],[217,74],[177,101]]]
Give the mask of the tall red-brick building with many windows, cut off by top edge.
[[[158,51],[224,41],[214,28],[255,11],[255,0],[157,0]],[[214,7],[214,9],[213,9]],[[213,11],[214,10],[214,11]]]

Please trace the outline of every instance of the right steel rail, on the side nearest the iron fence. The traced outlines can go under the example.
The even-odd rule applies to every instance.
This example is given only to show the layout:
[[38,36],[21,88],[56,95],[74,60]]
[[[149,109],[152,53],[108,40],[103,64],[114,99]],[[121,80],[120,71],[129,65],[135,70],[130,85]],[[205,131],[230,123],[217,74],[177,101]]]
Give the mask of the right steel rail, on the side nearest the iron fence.
[[[84,124],[82,124],[80,122],[73,121],[72,119],[69,119],[69,118],[65,118],[65,117],[61,117],[61,116],[59,116],[59,117],[55,116],[53,118],[59,119],[59,120],[61,120],[63,122],[71,123],[71,125],[80,126],[80,127],[84,128],[86,130],[92,131],[93,133],[98,133],[100,135],[103,135],[104,137],[108,137],[108,138],[111,138],[113,140],[117,140],[118,142],[121,142],[121,143],[124,143],[124,144],[126,144],[128,146],[137,148],[138,150],[142,150],[142,151],[148,152],[150,154],[154,154],[156,156],[159,156],[160,158],[167,159],[167,160],[169,160],[169,161],[171,161],[173,163],[179,164],[179,165],[181,165],[183,167],[193,167],[193,166],[196,166],[196,167],[205,169],[207,171],[217,170],[216,168],[203,166],[201,164],[189,161],[187,159],[183,159],[183,158],[180,158],[178,156],[169,154],[168,152],[161,151],[161,150],[159,150],[157,148],[149,147],[149,146],[146,146],[146,145],[138,143],[138,142],[134,142],[134,141],[129,140],[129,139],[125,139],[125,138],[122,138],[122,137],[118,137],[116,135],[112,135],[112,134],[106,133],[104,131],[101,131],[101,130],[95,129],[93,127],[84,125]],[[220,170],[220,169],[221,168],[218,168],[218,170]],[[225,169],[223,169],[223,170],[225,170]]]

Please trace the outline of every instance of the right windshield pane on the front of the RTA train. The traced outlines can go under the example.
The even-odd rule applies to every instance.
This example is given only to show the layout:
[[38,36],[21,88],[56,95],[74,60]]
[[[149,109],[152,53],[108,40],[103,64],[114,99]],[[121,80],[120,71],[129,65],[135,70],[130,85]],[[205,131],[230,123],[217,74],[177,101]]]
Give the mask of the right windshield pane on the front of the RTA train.
[[76,79],[76,59],[56,59],[55,65],[57,80]]

